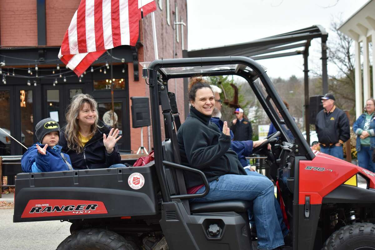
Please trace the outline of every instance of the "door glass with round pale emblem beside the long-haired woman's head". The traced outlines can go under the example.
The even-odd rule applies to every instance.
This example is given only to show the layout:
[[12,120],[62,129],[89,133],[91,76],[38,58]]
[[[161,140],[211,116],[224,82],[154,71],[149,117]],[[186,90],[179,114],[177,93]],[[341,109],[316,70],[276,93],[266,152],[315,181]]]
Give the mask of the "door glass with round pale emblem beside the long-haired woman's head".
[[114,126],[113,126],[113,115],[112,115],[112,103],[111,102],[99,102],[98,112],[99,119],[101,119],[105,124],[117,128],[120,130],[120,135],[122,135],[122,102],[114,102]]

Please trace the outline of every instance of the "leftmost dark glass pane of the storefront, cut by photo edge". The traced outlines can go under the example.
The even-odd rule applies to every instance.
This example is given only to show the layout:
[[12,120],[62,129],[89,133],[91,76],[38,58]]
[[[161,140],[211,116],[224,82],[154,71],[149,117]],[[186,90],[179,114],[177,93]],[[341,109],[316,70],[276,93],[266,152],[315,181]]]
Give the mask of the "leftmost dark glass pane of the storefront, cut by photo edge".
[[[10,94],[9,91],[0,91],[0,127],[10,135]],[[0,156],[10,155],[12,139],[0,130]]]

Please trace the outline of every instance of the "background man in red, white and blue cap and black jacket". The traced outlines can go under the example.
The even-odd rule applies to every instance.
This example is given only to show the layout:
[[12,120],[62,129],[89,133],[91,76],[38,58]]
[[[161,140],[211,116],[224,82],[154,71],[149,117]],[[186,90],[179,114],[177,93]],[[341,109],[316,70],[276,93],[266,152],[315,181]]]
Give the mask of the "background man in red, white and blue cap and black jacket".
[[249,141],[253,138],[253,129],[251,127],[250,121],[243,117],[243,109],[237,108],[234,111],[236,114],[236,119],[232,121],[231,130],[234,134],[234,141]]

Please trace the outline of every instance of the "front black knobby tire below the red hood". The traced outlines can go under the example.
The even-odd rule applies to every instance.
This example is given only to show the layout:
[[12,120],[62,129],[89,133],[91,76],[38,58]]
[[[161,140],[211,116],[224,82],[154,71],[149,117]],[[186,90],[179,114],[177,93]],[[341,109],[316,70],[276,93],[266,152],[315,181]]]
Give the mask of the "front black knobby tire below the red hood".
[[375,250],[375,225],[354,223],[334,232],[323,250]]

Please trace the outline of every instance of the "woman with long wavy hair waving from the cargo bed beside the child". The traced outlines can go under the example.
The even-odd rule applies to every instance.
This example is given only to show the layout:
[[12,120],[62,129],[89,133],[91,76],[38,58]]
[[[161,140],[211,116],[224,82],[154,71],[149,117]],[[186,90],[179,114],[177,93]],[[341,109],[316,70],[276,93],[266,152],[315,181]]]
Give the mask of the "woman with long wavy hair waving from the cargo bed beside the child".
[[74,169],[126,167],[120,164],[118,129],[99,120],[98,103],[90,95],[77,94],[72,98],[66,121],[59,145],[70,156]]

